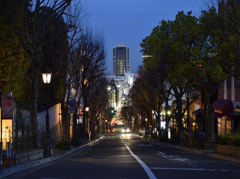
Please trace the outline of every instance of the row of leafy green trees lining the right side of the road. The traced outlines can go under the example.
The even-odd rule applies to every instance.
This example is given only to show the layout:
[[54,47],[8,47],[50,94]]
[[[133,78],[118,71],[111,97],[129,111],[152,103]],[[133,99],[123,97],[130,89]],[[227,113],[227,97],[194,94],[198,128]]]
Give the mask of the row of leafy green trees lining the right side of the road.
[[[183,107],[187,89],[204,94],[203,106],[207,118],[206,132],[213,139],[213,109],[210,96],[216,84],[239,72],[239,1],[214,6],[201,12],[178,12],[175,20],[162,20],[141,43],[146,67],[143,78],[132,90],[134,106],[151,115],[154,110],[160,121],[161,106],[169,109],[169,101],[176,104],[178,137],[182,132]],[[192,96],[195,100],[198,95]],[[167,111],[167,110],[165,110]],[[166,115],[166,128],[171,116]]]

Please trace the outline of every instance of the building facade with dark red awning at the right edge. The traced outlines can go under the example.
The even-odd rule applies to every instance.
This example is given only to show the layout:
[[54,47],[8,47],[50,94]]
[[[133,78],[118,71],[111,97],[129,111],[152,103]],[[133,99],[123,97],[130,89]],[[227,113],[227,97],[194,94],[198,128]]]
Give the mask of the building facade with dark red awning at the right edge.
[[[232,4],[233,3],[233,4]],[[218,0],[219,12],[221,5],[234,6],[239,0]],[[218,99],[212,104],[217,118],[217,134],[224,135],[240,129],[240,76],[229,77],[218,88]]]

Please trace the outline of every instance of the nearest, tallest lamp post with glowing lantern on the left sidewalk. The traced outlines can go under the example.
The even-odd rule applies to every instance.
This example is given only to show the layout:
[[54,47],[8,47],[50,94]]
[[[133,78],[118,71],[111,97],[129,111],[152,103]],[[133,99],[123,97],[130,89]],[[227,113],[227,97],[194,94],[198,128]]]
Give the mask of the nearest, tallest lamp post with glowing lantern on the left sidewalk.
[[51,141],[50,141],[50,130],[49,130],[49,83],[51,82],[52,73],[49,72],[47,68],[46,73],[42,73],[43,82],[47,84],[47,97],[46,97],[46,135],[45,135],[45,147],[44,147],[44,155],[50,156],[51,154]]

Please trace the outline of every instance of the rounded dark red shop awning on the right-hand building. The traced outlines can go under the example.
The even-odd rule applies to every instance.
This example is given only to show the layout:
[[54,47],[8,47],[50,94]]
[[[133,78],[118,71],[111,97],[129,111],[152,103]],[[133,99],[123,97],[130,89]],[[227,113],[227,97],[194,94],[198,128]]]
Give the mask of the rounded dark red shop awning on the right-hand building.
[[212,107],[214,108],[215,115],[219,115],[219,117],[231,114],[234,110],[232,101],[226,99],[216,100],[212,104]]

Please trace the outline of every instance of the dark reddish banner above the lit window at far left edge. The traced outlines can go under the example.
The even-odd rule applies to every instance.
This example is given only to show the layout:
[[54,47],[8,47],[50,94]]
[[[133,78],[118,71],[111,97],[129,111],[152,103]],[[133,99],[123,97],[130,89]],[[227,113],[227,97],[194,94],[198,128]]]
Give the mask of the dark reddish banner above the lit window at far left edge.
[[1,95],[2,119],[13,119],[13,99],[6,94]]

